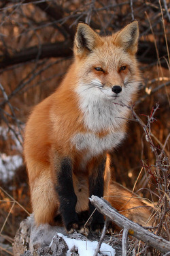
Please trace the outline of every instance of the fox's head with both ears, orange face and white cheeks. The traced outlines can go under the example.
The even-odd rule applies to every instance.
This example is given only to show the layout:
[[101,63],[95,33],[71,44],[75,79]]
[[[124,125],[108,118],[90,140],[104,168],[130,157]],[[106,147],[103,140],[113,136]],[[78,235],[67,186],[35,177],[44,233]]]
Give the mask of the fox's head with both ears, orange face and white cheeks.
[[109,36],[100,36],[86,23],[79,23],[74,40],[78,94],[133,102],[140,83],[135,58],[138,38],[136,20]]

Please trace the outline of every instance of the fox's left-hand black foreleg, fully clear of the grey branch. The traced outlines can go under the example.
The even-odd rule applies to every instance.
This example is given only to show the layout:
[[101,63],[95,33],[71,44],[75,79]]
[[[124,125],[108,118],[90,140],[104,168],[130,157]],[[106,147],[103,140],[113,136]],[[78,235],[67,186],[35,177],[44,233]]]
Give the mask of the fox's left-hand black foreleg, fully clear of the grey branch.
[[77,197],[73,189],[72,163],[69,158],[61,162],[61,169],[57,173],[58,186],[56,191],[60,201],[60,211],[67,231],[78,229],[78,216],[75,212]]

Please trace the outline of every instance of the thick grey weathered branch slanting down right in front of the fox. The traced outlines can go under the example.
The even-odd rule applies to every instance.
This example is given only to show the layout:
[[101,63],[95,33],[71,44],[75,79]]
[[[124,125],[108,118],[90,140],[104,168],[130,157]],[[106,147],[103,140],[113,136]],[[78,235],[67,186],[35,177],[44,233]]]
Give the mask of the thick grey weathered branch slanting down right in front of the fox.
[[111,205],[104,199],[101,199],[97,196],[90,198],[90,202],[95,205],[95,208],[103,215],[110,218],[116,225],[122,229],[128,229],[129,234],[135,238],[146,242],[149,246],[156,248],[156,250],[161,251],[162,253],[168,253],[170,250],[170,242],[154,235],[154,233],[144,229],[137,223],[133,223],[128,218],[122,216],[116,209],[112,208]]

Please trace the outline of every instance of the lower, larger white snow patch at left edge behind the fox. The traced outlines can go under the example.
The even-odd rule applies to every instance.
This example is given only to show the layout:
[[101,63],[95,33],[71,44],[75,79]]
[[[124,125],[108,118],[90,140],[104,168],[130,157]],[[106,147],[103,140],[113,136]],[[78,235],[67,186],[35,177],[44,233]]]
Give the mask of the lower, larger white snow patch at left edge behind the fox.
[[20,155],[7,156],[5,153],[0,154],[0,180],[7,182],[12,180],[16,168],[22,165],[22,157]]

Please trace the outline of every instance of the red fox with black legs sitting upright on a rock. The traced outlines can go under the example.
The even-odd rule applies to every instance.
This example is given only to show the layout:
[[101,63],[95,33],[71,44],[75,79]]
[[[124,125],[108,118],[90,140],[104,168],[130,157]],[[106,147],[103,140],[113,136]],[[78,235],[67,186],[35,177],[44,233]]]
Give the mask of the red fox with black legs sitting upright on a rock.
[[[90,216],[94,210],[88,197],[110,195],[108,152],[125,137],[130,111],[123,104],[134,102],[141,81],[138,37],[136,20],[103,37],[86,23],[78,24],[73,63],[54,94],[35,106],[25,129],[24,158],[37,225],[53,223],[61,214],[68,232],[80,231],[84,213]],[[114,187],[121,197],[116,184],[112,193]],[[90,227],[97,230],[103,221],[95,211]]]

